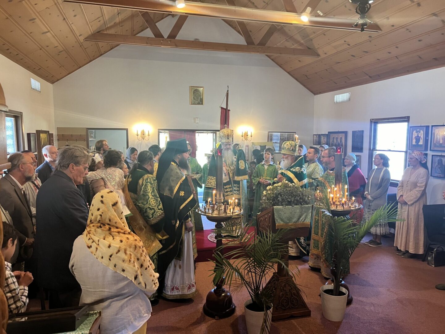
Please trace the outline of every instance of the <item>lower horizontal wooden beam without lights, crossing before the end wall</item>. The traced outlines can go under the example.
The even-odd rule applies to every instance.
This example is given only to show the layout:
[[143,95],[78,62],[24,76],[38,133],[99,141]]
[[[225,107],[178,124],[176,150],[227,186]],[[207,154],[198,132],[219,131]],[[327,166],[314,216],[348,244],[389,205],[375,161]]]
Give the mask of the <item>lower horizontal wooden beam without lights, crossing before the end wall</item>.
[[214,43],[214,42],[202,42],[202,41],[185,41],[185,40],[173,40],[168,38],[114,35],[106,33],[94,33],[93,35],[86,37],[85,41],[111,43],[111,44],[161,46],[165,48],[179,48],[179,49],[256,53],[256,54],[268,54],[268,55],[280,55],[280,56],[285,55],[285,56],[298,56],[298,57],[320,57],[318,53],[310,49],[279,48],[275,46],[257,46],[257,45]]

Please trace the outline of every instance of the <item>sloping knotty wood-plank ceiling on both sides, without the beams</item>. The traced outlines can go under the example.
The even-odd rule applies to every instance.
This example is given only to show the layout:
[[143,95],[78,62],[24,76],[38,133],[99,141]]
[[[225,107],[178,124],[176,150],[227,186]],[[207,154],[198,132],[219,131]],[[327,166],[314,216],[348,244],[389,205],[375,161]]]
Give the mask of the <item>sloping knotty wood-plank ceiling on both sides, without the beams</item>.
[[[285,11],[283,2],[289,6],[282,0],[200,2],[274,11]],[[293,1],[299,13],[307,3],[308,0]],[[348,0],[322,0],[312,13],[317,10],[324,16],[358,17]],[[150,15],[155,22],[167,16],[153,12]],[[375,0],[368,17],[379,24],[382,32],[226,23],[246,37],[249,45],[261,45],[269,32],[267,46],[309,48],[320,54],[319,58],[267,56],[314,94],[445,66],[444,0]],[[115,47],[84,41],[85,37],[97,32],[136,35],[146,28],[146,20],[137,11],[62,0],[0,3],[0,53],[51,83]]]

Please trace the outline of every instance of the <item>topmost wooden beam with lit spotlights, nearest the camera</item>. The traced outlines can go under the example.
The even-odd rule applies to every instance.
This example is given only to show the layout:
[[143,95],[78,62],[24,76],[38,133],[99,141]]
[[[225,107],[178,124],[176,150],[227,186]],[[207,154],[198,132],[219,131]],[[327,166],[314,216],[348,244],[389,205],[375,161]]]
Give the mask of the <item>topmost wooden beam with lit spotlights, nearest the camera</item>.
[[[301,25],[310,28],[340,29],[360,31],[360,27],[353,27],[356,20],[340,19],[328,16],[312,16],[308,22],[301,20],[300,14],[288,12],[275,12],[263,9],[231,7],[218,4],[203,4],[186,1],[184,8],[177,8],[174,1],[157,0],[65,0],[76,4],[93,4],[98,6],[126,8],[139,11],[161,12],[167,14],[196,15],[215,17],[225,20],[240,20],[263,22],[270,24]],[[381,29],[376,23],[369,24],[368,33],[378,33]]]

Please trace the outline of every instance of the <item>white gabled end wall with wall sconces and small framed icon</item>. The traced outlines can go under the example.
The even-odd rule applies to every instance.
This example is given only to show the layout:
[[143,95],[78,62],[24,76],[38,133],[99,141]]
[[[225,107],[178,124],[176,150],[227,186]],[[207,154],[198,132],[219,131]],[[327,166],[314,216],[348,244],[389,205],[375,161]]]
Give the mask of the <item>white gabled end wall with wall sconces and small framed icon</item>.
[[[175,20],[158,24],[164,36]],[[142,36],[153,35],[147,30]],[[245,44],[222,20],[190,16],[178,39],[194,38]],[[254,141],[280,130],[297,131],[306,143],[312,139],[313,94],[266,56],[135,45],[120,45],[55,83],[55,121],[57,126],[126,127],[129,145],[146,149],[157,143],[158,128],[219,129],[227,85],[234,130],[251,126]],[[189,86],[204,86],[204,106],[190,106]],[[139,122],[152,126],[150,142],[136,140],[132,128]]]

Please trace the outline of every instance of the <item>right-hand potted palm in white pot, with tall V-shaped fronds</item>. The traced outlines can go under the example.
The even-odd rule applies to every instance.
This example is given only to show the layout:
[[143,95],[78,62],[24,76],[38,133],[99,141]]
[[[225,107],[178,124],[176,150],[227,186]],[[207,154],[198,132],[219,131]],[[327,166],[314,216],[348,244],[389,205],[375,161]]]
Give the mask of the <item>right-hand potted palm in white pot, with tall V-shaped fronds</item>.
[[331,321],[341,321],[344,318],[348,291],[340,286],[345,270],[349,267],[349,259],[360,244],[360,241],[375,224],[386,221],[397,221],[397,207],[384,205],[362,224],[356,224],[348,216],[332,216],[329,200],[324,196],[318,203],[326,220],[324,257],[331,265],[333,285],[320,288],[323,316]]

